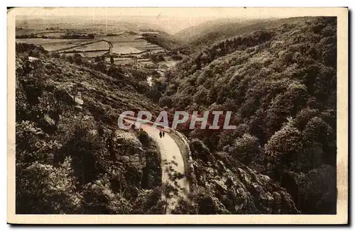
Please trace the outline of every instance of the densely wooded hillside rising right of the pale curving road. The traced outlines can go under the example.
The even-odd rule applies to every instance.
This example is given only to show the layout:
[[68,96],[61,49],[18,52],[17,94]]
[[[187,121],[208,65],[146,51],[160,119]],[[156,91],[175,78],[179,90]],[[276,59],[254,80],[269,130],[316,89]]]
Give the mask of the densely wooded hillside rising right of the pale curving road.
[[[280,22],[265,30],[246,28],[251,33],[182,60],[166,74],[160,106],[233,111],[236,130],[182,130],[195,139],[200,190],[224,208],[233,207],[230,213],[238,210],[224,196],[236,201],[240,194],[218,191],[205,184],[205,177],[226,181],[226,171],[235,176],[241,163],[286,188],[301,213],[336,213],[337,21]],[[203,159],[206,153],[210,159]],[[219,161],[223,167],[210,176],[209,165]]]

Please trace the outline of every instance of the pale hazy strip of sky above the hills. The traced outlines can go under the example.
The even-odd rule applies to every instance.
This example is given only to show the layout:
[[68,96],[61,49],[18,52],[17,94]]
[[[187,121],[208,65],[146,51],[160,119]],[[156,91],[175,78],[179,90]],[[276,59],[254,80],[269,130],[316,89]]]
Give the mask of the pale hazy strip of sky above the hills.
[[299,8],[18,8],[16,15],[50,19],[68,16],[88,21],[120,21],[150,23],[168,33],[197,26],[218,18],[288,18],[294,16],[323,15],[324,10]]

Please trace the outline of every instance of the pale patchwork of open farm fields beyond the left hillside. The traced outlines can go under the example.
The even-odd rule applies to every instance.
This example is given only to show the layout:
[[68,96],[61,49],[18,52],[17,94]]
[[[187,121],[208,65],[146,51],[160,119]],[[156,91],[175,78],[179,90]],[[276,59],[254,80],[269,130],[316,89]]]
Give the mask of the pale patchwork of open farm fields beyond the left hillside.
[[[106,56],[111,53],[114,55],[114,64],[117,65],[136,65],[148,68],[172,67],[175,61],[166,56],[166,50],[159,45],[149,43],[143,39],[142,35],[131,31],[115,31],[114,35],[107,36],[104,33],[98,33],[95,38],[60,38],[68,32],[72,33],[92,33],[92,31],[82,28],[81,30],[26,30],[21,29],[18,32],[28,35],[33,33],[35,36],[47,36],[48,38],[16,38],[16,43],[33,43],[41,45],[45,50],[55,51],[65,55],[80,54],[89,60],[95,57]],[[80,31],[80,32],[79,32]],[[51,37],[51,38],[50,38]],[[157,63],[156,57],[161,53],[164,61]],[[107,64],[111,60],[105,60]],[[158,65],[156,65],[158,64]]]

